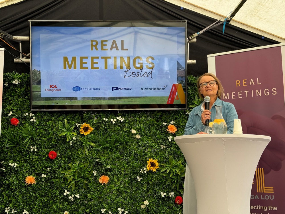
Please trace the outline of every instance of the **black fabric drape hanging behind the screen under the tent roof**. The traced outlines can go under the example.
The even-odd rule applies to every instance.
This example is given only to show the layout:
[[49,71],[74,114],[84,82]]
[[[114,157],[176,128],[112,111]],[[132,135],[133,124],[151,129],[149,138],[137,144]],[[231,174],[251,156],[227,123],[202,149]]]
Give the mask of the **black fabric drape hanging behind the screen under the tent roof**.
[[[232,8],[229,9],[229,11]],[[0,30],[12,36],[29,36],[28,20],[103,20],[103,21],[166,21],[187,20],[188,36],[200,32],[216,20],[188,9],[181,9],[163,0],[25,0],[0,8]],[[207,72],[207,54],[235,51],[279,42],[262,35],[226,24],[204,32],[197,43],[190,44],[189,58],[196,65],[188,65],[187,74],[198,76]],[[19,49],[18,43],[11,42]],[[29,53],[29,43],[22,42],[23,53]],[[5,43],[0,45],[15,56],[19,53]],[[25,64],[13,62],[15,58],[5,51],[4,72],[29,73]]]

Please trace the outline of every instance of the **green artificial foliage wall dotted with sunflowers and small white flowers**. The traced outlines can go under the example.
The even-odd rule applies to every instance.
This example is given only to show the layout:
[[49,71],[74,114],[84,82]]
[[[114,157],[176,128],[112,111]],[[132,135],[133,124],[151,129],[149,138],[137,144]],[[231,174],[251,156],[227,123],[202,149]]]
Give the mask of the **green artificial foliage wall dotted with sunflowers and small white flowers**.
[[[182,214],[174,199],[183,198],[186,161],[174,137],[189,112],[30,112],[29,74],[6,73],[3,83],[0,213]],[[162,172],[170,157],[177,179]],[[150,159],[156,170],[146,169]]]

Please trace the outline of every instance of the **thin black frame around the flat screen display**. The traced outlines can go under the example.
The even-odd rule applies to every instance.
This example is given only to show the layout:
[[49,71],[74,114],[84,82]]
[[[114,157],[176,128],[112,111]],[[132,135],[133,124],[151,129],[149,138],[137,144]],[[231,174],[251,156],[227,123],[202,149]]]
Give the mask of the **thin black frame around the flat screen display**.
[[[29,20],[30,26],[30,109],[31,111],[66,110],[187,110],[187,21],[68,21]],[[32,27],[185,27],[185,104],[95,104],[33,105]]]

